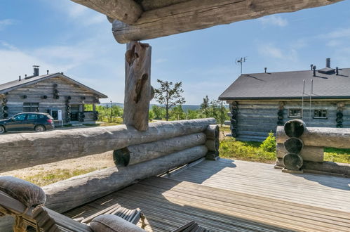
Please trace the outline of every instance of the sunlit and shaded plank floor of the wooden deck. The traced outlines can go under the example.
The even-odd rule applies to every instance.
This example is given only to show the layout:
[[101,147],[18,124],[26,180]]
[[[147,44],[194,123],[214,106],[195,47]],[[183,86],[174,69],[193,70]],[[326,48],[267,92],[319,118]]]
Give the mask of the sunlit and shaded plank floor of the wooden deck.
[[146,179],[67,215],[88,217],[118,202],[140,207],[147,231],[172,231],[191,220],[213,231],[349,231],[349,184],[341,177],[221,159]]

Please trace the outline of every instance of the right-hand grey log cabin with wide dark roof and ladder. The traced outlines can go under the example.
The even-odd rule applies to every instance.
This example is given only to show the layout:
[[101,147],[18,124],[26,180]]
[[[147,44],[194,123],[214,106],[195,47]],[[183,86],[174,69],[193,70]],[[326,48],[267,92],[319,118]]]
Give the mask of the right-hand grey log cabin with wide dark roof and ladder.
[[230,105],[232,136],[262,141],[277,125],[300,118],[307,127],[350,127],[350,68],[243,74],[219,97]]

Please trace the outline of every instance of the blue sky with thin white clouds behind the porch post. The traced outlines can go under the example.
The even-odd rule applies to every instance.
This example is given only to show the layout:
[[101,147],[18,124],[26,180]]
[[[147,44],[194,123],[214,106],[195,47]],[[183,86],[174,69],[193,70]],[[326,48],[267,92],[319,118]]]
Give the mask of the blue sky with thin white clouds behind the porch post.
[[[118,44],[104,15],[69,0],[0,1],[0,83],[65,72],[123,102],[125,44]],[[156,79],[182,82],[187,104],[217,98],[243,73],[308,70],[310,64],[350,67],[350,1],[295,13],[234,22],[145,41],[152,46]]]

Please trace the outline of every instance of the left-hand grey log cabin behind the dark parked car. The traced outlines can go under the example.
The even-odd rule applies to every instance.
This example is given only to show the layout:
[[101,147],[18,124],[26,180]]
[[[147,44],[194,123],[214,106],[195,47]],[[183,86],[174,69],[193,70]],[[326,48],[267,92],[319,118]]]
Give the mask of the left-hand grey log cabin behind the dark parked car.
[[[32,76],[0,84],[0,119],[19,112],[47,112],[57,121],[69,123],[95,123],[95,104],[107,98],[88,86],[63,75],[63,72],[39,75],[39,66]],[[92,110],[84,110],[84,105]]]

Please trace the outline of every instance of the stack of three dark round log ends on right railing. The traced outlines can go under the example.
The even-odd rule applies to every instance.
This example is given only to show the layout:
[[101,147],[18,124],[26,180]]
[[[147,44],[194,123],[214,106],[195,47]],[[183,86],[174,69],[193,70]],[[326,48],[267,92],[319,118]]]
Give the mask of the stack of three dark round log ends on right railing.
[[[300,139],[300,136],[304,134],[306,128],[307,127],[302,120],[290,120],[285,123],[284,131],[289,138],[285,139],[283,143],[286,150],[286,153],[282,158],[283,171],[301,171],[303,165],[302,149],[304,148],[304,143],[302,139]],[[281,151],[276,150],[276,153],[280,152]]]

